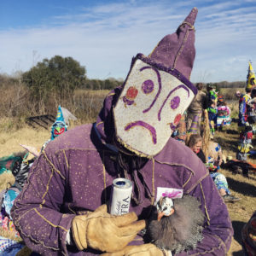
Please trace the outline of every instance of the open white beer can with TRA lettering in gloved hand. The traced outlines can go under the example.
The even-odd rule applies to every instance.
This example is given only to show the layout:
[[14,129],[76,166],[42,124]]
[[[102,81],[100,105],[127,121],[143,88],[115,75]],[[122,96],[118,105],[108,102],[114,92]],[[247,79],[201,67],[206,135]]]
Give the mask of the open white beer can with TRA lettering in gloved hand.
[[129,212],[132,183],[129,179],[119,177],[113,180],[110,214],[122,215]]

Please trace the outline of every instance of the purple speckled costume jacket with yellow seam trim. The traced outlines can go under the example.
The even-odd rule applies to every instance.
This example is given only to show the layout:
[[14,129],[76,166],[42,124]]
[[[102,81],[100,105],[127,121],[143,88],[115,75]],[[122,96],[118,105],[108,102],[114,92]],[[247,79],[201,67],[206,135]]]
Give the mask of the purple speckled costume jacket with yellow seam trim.
[[[114,132],[112,106],[119,89],[115,92],[106,98],[96,125],[81,125],[55,138],[33,164],[12,208],[15,226],[33,251],[44,255],[100,254],[90,248],[78,252],[67,247],[66,236],[76,214],[94,211],[108,202],[113,179],[118,177],[114,150],[108,144]],[[170,138],[160,154],[138,172],[129,178],[132,182],[137,178],[141,204],[131,201],[130,211],[148,218],[157,187],[183,189],[184,194],[201,201],[205,214],[204,238],[188,254],[227,253],[233,236],[229,212],[204,164],[189,148]],[[133,242],[141,243],[139,236]]]

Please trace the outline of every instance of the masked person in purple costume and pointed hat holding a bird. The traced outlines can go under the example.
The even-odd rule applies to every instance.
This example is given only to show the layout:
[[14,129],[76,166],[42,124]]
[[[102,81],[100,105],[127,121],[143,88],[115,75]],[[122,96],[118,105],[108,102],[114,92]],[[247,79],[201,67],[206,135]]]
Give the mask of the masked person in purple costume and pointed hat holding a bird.
[[[67,131],[40,154],[12,208],[27,247],[44,255],[172,255],[137,233],[161,196],[189,194],[201,202],[203,239],[178,255],[228,252],[227,207],[201,160],[171,137],[197,92],[189,82],[196,15],[194,8],[150,55],[133,58],[94,125]],[[106,207],[116,177],[133,183],[130,213],[122,216]]]

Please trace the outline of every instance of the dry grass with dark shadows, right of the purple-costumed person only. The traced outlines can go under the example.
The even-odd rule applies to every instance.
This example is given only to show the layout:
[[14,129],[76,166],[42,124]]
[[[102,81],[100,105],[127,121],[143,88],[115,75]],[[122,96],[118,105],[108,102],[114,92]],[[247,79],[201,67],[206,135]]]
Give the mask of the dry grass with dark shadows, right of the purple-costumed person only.
[[[222,146],[224,155],[235,158],[239,135],[232,128],[236,128],[236,125],[232,124],[226,131],[217,132],[214,140]],[[249,161],[256,162],[253,159]],[[227,203],[235,231],[229,255],[241,256],[241,228],[256,210],[256,172],[249,172],[249,177],[243,177],[241,173],[235,175],[225,169],[220,172],[227,178],[232,195],[241,198],[236,203]]]

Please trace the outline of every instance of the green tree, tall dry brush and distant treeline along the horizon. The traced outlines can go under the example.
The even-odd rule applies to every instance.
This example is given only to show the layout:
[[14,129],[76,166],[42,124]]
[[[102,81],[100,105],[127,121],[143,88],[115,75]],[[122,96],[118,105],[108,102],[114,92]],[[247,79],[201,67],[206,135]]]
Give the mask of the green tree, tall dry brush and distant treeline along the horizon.
[[[25,73],[0,74],[0,119],[19,119],[15,122],[19,124],[28,116],[55,115],[61,104],[81,122],[87,122],[96,118],[108,91],[123,83],[123,79],[88,79],[85,67],[78,61],[55,55],[38,62]],[[218,89],[244,88],[245,81],[223,81],[215,85]],[[227,93],[231,97],[234,91]]]

